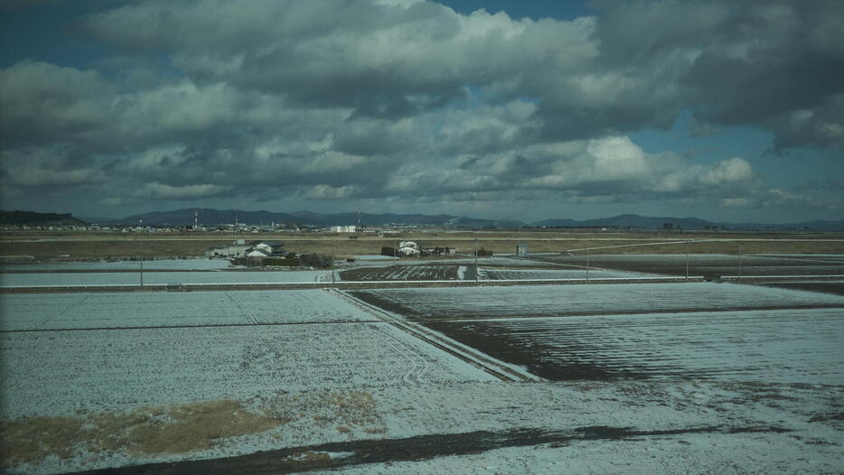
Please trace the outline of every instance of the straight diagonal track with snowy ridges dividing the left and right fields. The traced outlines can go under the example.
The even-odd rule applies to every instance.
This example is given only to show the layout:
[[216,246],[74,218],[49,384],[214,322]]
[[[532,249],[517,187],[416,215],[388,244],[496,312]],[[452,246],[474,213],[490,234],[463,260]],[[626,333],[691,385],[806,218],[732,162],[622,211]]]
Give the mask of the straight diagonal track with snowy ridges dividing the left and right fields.
[[435,331],[430,331],[422,325],[419,325],[413,321],[407,321],[399,316],[393,315],[391,312],[380,309],[375,305],[363,302],[360,299],[357,299],[354,296],[350,295],[349,293],[345,293],[340,290],[334,289],[326,289],[326,292],[337,295],[346,302],[351,303],[355,307],[361,309],[362,312],[366,312],[380,321],[389,323],[390,325],[398,328],[399,330],[405,331],[409,335],[414,336],[417,339],[422,340],[437,349],[442,349],[446,353],[454,355],[458,359],[462,359],[476,368],[481,368],[483,369],[483,371],[501,379],[502,381],[543,381],[541,377],[532,375],[526,370],[513,368],[510,365],[507,365],[506,363],[503,363],[496,359],[492,359],[492,357],[485,355],[476,349],[466,347],[465,345],[455,340],[447,339],[444,336],[439,335]]

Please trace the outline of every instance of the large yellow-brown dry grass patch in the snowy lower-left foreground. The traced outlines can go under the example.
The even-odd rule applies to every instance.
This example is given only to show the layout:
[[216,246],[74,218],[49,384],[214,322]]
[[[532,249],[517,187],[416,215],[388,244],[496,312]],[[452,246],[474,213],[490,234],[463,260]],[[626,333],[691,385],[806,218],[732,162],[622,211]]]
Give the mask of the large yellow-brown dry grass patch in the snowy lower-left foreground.
[[11,467],[37,464],[48,455],[69,459],[77,451],[125,450],[133,456],[195,452],[228,437],[264,432],[285,422],[250,413],[230,400],[140,407],[128,413],[24,417],[3,421],[0,456],[3,465]]

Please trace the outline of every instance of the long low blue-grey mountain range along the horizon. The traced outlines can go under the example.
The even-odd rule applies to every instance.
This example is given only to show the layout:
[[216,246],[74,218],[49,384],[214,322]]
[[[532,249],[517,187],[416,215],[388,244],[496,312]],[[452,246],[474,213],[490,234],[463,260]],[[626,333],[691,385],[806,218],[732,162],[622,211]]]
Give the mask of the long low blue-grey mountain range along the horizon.
[[[271,211],[244,210],[213,210],[200,209],[199,222],[205,226],[233,224],[235,222],[248,225],[296,224],[306,226],[337,226],[357,225],[358,213],[315,213],[311,211],[295,211],[279,213]],[[184,226],[193,223],[193,209],[154,211],[150,213],[127,216],[122,219],[87,219],[89,222],[136,225],[143,220],[145,225],[151,226]],[[636,214],[623,214],[602,219],[544,219],[534,223],[517,220],[474,219],[446,214],[372,214],[361,213],[360,224],[363,226],[417,225],[437,226],[444,228],[640,228],[640,229],[730,229],[730,230],[811,230],[811,231],[844,231],[844,220],[837,221],[805,221],[787,224],[758,224],[758,223],[729,223],[714,222],[698,218],[654,218]]]

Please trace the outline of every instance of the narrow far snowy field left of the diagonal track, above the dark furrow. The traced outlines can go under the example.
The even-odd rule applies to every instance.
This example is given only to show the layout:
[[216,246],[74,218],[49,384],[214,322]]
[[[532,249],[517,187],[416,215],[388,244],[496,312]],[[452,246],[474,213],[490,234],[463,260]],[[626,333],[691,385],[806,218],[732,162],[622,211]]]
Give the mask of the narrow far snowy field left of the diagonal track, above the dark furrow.
[[0,310],[0,331],[375,320],[322,290],[6,294]]

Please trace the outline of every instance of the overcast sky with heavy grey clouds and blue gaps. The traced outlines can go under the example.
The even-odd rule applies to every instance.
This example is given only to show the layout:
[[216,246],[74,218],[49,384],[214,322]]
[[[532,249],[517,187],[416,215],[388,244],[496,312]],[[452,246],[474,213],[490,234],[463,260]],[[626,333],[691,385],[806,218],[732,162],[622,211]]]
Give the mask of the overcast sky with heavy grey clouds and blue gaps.
[[844,2],[9,0],[2,208],[844,217]]

